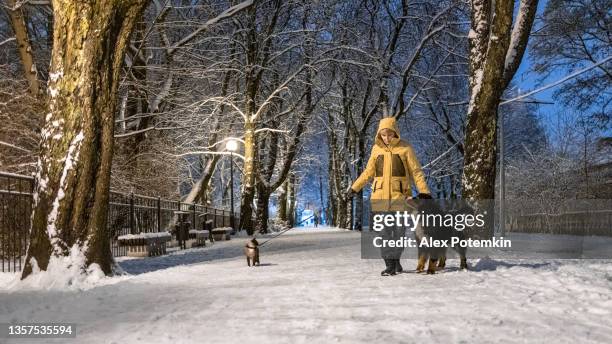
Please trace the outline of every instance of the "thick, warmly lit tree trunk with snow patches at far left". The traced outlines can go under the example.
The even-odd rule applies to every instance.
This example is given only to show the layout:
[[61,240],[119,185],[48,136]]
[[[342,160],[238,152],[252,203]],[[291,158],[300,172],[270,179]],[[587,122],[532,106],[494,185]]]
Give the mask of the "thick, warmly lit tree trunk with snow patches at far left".
[[49,113],[22,278],[53,261],[79,264],[81,272],[95,263],[112,273],[106,222],[116,92],[126,44],[146,3],[53,1]]

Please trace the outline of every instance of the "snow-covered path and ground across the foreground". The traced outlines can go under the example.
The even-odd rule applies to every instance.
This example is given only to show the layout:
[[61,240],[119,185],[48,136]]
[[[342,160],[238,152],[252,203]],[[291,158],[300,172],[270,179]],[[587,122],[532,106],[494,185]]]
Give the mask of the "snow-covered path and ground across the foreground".
[[462,272],[450,260],[435,276],[381,277],[358,233],[289,233],[256,268],[232,239],[122,259],[129,276],[86,290],[16,291],[0,274],[0,323],[77,323],[57,343],[612,343],[612,261],[481,259]]

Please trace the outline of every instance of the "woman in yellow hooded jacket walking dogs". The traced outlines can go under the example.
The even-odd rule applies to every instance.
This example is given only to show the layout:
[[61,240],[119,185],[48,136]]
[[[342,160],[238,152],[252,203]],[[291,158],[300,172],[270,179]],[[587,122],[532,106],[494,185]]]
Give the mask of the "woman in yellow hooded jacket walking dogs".
[[[348,191],[359,192],[371,179],[374,179],[370,196],[372,211],[401,210],[397,209],[397,206],[401,206],[405,199],[412,197],[413,184],[421,198],[431,198],[421,164],[412,146],[400,139],[394,117],[380,120],[366,168]],[[400,256],[401,249],[399,253],[394,250],[391,257],[383,253],[386,269],[381,275],[395,275],[401,272]]]

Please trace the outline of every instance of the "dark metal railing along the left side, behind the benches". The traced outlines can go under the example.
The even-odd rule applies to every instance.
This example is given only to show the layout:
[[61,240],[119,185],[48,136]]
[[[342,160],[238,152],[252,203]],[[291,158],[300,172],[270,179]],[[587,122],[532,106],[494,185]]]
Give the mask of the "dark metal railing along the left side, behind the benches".
[[[0,172],[0,271],[20,271],[29,239],[34,178]],[[179,219],[178,212],[182,212]],[[124,234],[174,232],[180,221],[190,228],[229,227],[230,211],[136,194],[111,191],[107,231],[115,257],[127,254],[117,238]],[[234,224],[239,223],[234,214]]]

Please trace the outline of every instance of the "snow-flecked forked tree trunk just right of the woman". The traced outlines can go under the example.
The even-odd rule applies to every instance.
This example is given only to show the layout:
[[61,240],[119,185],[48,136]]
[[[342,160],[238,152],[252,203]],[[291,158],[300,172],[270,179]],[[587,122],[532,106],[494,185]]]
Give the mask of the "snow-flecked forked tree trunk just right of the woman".
[[536,8],[537,0],[522,0],[513,29],[513,0],[498,0],[493,5],[490,0],[471,2],[471,94],[462,179],[465,199],[495,197],[497,110],[525,52]]

